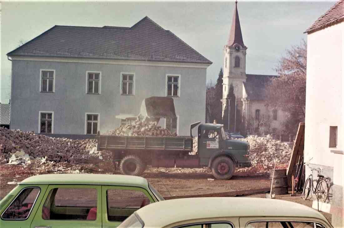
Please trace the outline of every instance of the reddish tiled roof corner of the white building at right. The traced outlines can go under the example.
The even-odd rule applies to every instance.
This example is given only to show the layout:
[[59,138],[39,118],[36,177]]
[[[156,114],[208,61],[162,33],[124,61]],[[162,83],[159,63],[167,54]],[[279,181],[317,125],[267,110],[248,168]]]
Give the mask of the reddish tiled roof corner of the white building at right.
[[328,26],[344,21],[344,0],[338,1],[324,15],[318,18],[305,33],[313,33]]

